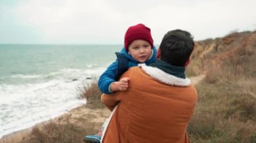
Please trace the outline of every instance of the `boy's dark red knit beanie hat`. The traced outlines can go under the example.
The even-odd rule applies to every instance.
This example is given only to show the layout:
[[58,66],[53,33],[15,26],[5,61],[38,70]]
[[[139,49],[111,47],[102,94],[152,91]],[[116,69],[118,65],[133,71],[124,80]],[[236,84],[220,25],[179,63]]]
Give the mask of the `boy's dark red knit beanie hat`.
[[134,40],[146,40],[153,48],[153,39],[151,36],[150,28],[139,23],[135,26],[131,26],[125,33],[125,50],[128,51],[129,44]]

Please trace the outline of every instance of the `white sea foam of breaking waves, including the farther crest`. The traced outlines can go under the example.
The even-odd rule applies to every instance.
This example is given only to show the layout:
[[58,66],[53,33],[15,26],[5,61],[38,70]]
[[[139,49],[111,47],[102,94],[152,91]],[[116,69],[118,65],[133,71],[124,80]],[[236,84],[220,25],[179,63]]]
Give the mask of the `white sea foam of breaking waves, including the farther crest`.
[[[51,80],[18,85],[0,84],[0,138],[85,104],[86,100],[78,98],[77,88],[88,85],[90,80],[86,78],[97,77],[103,69],[65,68],[58,73],[48,74],[55,76]],[[24,77],[30,76],[15,76]]]

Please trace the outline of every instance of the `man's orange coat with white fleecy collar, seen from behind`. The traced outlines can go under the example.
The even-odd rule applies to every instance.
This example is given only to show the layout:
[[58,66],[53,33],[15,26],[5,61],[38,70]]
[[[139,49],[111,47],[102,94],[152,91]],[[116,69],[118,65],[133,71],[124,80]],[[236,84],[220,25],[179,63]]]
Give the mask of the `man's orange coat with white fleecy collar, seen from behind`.
[[127,91],[102,95],[108,105],[120,101],[102,142],[189,142],[186,130],[197,101],[189,79],[146,65],[122,77],[130,78]]

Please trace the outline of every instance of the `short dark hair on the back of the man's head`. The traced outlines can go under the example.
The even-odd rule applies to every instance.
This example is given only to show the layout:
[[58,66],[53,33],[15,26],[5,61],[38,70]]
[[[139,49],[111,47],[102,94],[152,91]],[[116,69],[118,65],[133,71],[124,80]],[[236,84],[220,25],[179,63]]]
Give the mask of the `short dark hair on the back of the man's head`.
[[160,44],[160,58],[174,66],[184,66],[194,49],[193,36],[183,30],[167,32]]

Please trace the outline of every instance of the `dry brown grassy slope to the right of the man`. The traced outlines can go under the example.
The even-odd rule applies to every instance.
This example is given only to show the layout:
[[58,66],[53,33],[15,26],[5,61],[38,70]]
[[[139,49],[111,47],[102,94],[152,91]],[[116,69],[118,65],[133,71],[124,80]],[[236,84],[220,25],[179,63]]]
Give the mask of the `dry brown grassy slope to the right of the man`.
[[[191,142],[256,142],[256,34],[249,40],[207,62],[205,79],[196,85]],[[234,38],[228,40],[232,42]]]

